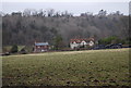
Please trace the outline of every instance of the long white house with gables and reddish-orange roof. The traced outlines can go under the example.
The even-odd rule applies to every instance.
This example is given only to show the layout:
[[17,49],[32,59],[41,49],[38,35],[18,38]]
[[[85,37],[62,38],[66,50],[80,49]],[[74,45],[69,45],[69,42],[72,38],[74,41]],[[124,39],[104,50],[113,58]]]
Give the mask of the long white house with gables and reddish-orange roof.
[[93,47],[95,45],[94,38],[74,38],[70,40],[70,48],[86,48],[87,46]]

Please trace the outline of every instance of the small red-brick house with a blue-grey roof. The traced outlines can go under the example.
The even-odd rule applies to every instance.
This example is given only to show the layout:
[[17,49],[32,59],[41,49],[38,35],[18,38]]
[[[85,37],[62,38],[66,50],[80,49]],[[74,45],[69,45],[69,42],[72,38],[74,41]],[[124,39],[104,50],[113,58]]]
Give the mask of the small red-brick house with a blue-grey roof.
[[49,50],[48,42],[35,42],[34,43],[34,52],[45,52]]

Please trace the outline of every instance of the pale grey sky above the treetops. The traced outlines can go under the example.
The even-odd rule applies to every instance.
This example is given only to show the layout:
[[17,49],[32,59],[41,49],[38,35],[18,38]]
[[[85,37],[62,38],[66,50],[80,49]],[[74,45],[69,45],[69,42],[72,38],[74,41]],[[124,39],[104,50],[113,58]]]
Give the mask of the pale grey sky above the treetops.
[[128,2],[2,2],[4,13],[24,11],[25,9],[55,9],[56,11],[69,11],[74,15],[83,12],[98,13],[99,10],[106,10],[108,13],[120,11],[129,14]]

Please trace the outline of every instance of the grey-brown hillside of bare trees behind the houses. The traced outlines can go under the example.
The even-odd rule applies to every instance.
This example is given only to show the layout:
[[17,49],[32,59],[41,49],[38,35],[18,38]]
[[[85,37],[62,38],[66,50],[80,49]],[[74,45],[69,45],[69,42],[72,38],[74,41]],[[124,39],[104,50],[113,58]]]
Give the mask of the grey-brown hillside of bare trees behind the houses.
[[106,14],[100,10],[98,14],[82,13],[80,16],[64,12],[44,11],[32,13],[12,13],[2,15],[3,46],[33,45],[34,41],[53,43],[57,36],[61,36],[63,43],[69,45],[71,38],[94,37],[102,39],[109,36],[129,37],[129,16],[120,12]]

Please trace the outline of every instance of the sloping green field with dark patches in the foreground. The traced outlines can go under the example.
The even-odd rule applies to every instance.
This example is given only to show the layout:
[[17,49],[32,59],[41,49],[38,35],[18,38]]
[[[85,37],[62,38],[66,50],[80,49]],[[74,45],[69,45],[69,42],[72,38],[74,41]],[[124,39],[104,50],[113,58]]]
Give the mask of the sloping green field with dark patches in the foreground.
[[2,58],[3,86],[129,86],[129,49]]

